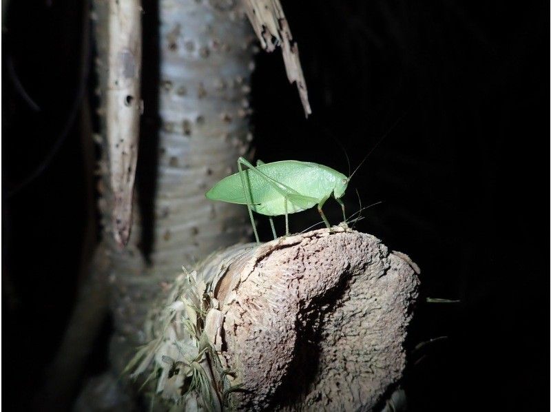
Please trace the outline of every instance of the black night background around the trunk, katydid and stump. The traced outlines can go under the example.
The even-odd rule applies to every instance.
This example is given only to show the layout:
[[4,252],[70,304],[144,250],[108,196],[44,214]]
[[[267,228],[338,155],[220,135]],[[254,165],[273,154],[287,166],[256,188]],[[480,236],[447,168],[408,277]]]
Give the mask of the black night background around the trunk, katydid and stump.
[[[304,119],[280,52],[260,53],[256,156],[347,173],[340,145],[355,167],[380,142],[345,200],[349,214],[359,207],[355,188],[362,205],[382,202],[364,210],[357,229],[422,268],[403,382],[410,410],[547,409],[549,4],[283,6],[313,114]],[[18,0],[3,15],[2,389],[9,410],[28,410],[98,236],[87,177],[96,157],[87,120],[96,104],[93,44],[83,47],[90,35],[83,10],[81,1]],[[151,10],[146,2],[146,30],[156,19]],[[339,221],[336,203],[326,212]],[[291,229],[319,220],[314,210],[303,215],[291,216]],[[426,304],[426,297],[460,302]],[[413,351],[439,336],[448,338]],[[96,345],[89,373],[105,364],[104,345]]]

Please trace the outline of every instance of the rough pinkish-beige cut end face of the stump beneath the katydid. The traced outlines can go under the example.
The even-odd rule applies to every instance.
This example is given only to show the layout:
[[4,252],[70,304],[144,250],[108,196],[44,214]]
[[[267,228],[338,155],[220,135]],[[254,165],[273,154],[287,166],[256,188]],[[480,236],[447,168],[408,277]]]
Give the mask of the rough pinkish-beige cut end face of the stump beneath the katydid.
[[401,378],[418,278],[374,236],[333,228],[275,240],[219,285],[222,356],[240,369],[245,409],[369,410]]

